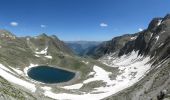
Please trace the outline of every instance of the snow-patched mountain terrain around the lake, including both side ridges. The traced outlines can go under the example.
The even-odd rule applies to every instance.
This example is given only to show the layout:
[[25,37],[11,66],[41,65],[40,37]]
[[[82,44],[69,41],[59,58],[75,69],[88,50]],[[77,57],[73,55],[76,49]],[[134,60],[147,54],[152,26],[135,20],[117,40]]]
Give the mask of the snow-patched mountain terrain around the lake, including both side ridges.
[[[9,85],[0,88],[16,90],[21,94],[17,99],[170,98],[170,14],[154,18],[141,32],[118,36],[94,46],[86,54],[97,60],[74,55],[56,36],[17,37],[9,33],[0,31],[0,85],[4,82]],[[37,64],[73,70],[77,77],[67,84],[40,84],[26,76],[26,69]],[[19,81],[11,82],[9,76]],[[29,84],[34,91],[28,91],[29,86],[18,82]],[[2,99],[9,100],[16,99],[16,92],[0,91]]]

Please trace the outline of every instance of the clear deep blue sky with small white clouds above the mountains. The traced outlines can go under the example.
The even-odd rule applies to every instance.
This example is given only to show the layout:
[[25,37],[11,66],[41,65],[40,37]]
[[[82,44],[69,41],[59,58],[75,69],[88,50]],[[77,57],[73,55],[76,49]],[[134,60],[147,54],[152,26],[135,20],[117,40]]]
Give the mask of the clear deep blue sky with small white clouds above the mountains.
[[0,29],[61,40],[109,40],[170,13],[170,0],[0,0]]

